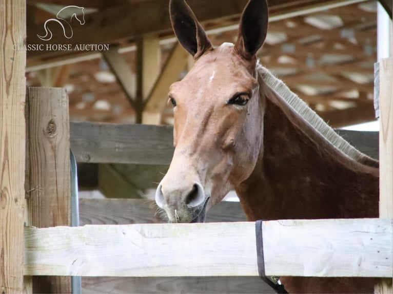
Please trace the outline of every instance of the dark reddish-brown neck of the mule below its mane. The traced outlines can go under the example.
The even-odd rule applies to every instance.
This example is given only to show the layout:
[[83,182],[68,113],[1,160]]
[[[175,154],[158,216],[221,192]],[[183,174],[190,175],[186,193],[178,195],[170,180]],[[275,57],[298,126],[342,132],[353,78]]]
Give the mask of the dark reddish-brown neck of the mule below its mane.
[[378,169],[341,153],[267,86],[262,93],[263,146],[236,188],[247,218],[378,217]]

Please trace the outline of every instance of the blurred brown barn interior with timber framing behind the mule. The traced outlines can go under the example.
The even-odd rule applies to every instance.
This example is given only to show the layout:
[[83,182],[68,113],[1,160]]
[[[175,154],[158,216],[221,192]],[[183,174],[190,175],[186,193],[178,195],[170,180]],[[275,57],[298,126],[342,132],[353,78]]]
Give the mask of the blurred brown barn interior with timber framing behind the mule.
[[[234,42],[246,0],[188,3],[213,45]],[[172,124],[168,86],[192,59],[181,48],[163,0],[28,0],[27,44],[71,44],[73,50],[28,50],[28,86],[64,87],[71,121]],[[270,23],[260,62],[280,77],[333,128],[375,120],[378,2],[268,0]],[[380,1],[391,18],[391,1]],[[44,23],[65,6],[84,7],[85,24],[73,20],[72,38]],[[384,11],[382,9],[382,11]],[[390,23],[391,27],[391,23]],[[386,38],[391,37],[386,33]],[[109,50],[74,50],[76,45]],[[93,47],[93,46],[91,46]],[[104,46],[101,46],[104,47]],[[58,49],[58,48],[57,48]],[[125,134],[126,136],[127,134]],[[107,197],[140,197],[165,166],[82,164],[80,187]]]

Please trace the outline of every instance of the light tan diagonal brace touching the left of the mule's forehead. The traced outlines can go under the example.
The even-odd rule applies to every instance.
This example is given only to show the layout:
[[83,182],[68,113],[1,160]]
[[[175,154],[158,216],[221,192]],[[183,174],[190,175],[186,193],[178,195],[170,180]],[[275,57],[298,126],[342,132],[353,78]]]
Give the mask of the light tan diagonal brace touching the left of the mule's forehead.
[[181,72],[187,66],[188,55],[187,51],[180,44],[176,43],[163,67],[159,79],[155,82],[147,98],[147,104],[145,106],[146,116],[160,114],[162,112],[168,100],[169,86],[179,80]]

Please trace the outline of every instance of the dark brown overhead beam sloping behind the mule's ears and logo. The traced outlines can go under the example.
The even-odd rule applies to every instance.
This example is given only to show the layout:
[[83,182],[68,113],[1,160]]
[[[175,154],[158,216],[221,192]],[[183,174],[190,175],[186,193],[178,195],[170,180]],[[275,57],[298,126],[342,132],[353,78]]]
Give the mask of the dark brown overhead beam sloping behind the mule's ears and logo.
[[[312,9],[318,11],[327,6],[337,6],[341,3],[357,3],[364,0],[269,0],[269,13],[272,17],[294,13],[301,10]],[[150,33],[166,33],[172,35],[172,28],[168,14],[169,0],[127,2],[124,5],[110,7],[85,16],[83,26],[73,27],[73,37],[67,43],[74,47],[76,44],[114,44],[120,40],[135,40],[137,36]],[[211,5],[209,0],[189,0],[188,4],[197,15],[200,22],[212,22],[219,19],[239,17],[247,0],[233,0],[230,5],[226,2],[215,2]],[[207,9],[208,8],[208,9]],[[288,17],[288,15],[285,15]],[[116,20],[115,26],[113,20]],[[238,22],[238,20],[236,20]],[[63,44],[62,34],[53,35],[53,38],[44,43],[37,37],[43,30],[42,24],[30,27],[28,30],[28,44]],[[50,57],[67,54],[62,51],[28,51],[28,57]],[[69,52],[68,52],[69,53]]]

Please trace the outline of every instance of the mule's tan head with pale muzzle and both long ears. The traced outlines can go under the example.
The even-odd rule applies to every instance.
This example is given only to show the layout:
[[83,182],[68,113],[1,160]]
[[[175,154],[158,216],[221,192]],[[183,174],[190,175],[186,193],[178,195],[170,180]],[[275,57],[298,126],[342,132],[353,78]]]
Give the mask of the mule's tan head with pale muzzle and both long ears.
[[266,0],[250,0],[235,45],[213,48],[184,0],[170,1],[173,30],[194,65],[173,83],[174,155],[155,200],[171,222],[203,222],[208,208],[249,177],[261,151],[263,103],[256,52],[266,37]]

